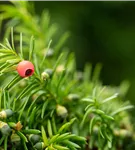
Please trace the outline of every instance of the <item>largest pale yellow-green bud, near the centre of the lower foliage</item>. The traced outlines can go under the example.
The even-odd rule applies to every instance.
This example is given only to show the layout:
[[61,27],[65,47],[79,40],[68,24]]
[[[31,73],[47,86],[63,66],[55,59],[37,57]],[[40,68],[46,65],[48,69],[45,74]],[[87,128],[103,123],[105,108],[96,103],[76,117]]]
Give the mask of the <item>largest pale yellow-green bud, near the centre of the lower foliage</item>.
[[65,118],[68,115],[67,109],[64,106],[61,106],[61,105],[57,105],[56,113],[57,113],[58,116],[60,116],[62,118]]

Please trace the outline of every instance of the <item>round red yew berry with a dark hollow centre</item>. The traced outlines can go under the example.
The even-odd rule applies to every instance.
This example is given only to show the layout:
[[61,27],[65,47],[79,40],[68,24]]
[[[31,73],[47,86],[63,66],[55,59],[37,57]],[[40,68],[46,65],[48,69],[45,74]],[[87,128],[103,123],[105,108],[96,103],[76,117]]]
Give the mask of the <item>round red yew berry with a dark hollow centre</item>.
[[34,65],[27,60],[21,61],[17,66],[17,72],[21,77],[28,77],[34,73]]

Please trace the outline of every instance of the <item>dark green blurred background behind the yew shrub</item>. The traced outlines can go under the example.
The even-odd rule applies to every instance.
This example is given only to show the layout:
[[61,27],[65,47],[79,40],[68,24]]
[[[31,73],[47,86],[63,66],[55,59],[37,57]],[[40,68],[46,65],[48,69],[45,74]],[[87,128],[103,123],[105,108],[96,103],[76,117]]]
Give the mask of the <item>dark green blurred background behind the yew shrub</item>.
[[[68,47],[75,51],[77,68],[86,62],[103,64],[104,84],[131,83],[127,98],[135,104],[135,1],[134,0],[30,0],[36,13],[50,12],[60,33],[70,31]],[[1,3],[6,0],[1,0]]]

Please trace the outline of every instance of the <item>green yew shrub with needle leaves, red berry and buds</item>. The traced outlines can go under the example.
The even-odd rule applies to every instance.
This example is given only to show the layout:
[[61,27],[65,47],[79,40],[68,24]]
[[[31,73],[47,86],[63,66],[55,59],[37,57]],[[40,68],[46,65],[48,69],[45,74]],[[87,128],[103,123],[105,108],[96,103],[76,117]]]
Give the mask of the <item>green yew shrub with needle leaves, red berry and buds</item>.
[[0,149],[132,149],[134,129],[125,100],[128,83],[104,86],[101,65],[76,69],[65,47],[69,33],[27,0],[1,5]]

